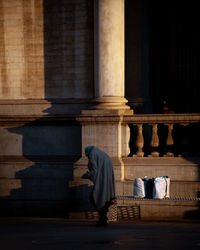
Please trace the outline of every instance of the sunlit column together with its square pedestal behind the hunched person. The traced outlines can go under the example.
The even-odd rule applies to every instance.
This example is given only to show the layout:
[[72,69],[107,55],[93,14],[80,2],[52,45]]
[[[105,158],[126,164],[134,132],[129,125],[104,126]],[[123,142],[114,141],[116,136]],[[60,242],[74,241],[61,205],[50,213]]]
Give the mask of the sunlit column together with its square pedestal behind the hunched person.
[[[88,209],[88,192],[81,187],[89,182],[81,179],[87,170],[84,149],[93,145],[111,157],[116,180],[116,194],[123,195],[124,163],[129,147],[129,128],[125,115],[133,114],[124,98],[124,0],[95,0],[95,105],[82,110],[77,121],[82,125],[82,157],[74,164],[75,190],[72,199],[80,209]],[[80,195],[81,193],[81,195]],[[76,195],[77,194],[77,195]],[[79,197],[78,200],[76,200]],[[80,198],[81,197],[81,198]],[[80,199],[82,199],[80,201]],[[73,201],[72,201],[73,202]],[[76,210],[76,207],[73,207]]]

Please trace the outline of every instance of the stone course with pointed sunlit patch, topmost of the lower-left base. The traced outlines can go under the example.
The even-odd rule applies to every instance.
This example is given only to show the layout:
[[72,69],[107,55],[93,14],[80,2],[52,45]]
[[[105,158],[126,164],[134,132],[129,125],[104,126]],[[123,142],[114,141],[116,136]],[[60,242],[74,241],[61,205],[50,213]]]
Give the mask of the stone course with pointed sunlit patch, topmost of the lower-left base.
[[71,180],[75,159],[71,157],[1,157],[0,179]]

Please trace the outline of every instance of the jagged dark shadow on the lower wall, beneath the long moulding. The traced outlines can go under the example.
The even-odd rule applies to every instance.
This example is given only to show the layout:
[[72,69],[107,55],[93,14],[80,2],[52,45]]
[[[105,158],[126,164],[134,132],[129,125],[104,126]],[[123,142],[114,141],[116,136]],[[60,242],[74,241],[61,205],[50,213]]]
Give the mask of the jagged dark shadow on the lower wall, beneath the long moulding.
[[11,178],[3,188],[10,194],[0,197],[1,216],[67,217],[80,126],[73,120],[47,117],[6,130],[22,137],[22,156],[6,162]]

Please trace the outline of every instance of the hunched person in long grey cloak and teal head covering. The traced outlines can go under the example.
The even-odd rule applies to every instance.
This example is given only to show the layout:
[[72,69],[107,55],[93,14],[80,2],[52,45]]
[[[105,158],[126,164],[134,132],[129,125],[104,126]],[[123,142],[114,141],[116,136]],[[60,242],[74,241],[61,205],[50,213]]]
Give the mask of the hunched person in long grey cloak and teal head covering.
[[85,155],[88,157],[88,169],[82,178],[88,178],[93,183],[90,195],[94,208],[99,213],[97,226],[107,225],[107,212],[115,200],[115,179],[110,157],[102,150],[87,146]]

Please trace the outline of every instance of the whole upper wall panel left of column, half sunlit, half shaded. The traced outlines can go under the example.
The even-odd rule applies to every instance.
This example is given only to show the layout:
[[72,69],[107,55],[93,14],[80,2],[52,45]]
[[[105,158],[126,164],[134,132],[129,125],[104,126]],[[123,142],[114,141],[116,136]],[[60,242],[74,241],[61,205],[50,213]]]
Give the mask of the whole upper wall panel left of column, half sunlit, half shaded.
[[92,1],[2,0],[0,98],[93,97]]

